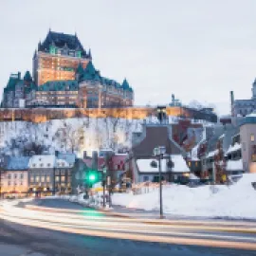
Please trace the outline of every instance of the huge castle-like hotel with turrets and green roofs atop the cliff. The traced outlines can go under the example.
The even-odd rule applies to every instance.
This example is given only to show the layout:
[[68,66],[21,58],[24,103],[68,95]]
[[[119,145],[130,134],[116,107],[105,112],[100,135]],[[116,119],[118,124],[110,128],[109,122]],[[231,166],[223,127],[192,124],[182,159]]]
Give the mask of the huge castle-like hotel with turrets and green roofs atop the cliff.
[[77,35],[49,31],[33,56],[33,73],[11,74],[1,106],[121,107],[132,106],[134,91],[126,79],[119,83],[101,76]]

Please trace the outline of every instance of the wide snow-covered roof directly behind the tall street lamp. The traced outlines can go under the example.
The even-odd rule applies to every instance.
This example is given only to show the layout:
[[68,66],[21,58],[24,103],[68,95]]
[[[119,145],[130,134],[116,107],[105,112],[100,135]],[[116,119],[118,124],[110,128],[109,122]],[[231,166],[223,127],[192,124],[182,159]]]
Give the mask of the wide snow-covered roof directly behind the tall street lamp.
[[[154,158],[150,159],[137,159],[137,168],[140,173],[158,173],[158,168],[151,166],[151,162],[155,160]],[[169,159],[161,159],[162,172],[172,172],[172,173],[190,173],[190,169],[187,166],[186,161],[182,155],[171,155],[171,160],[174,163],[172,171],[169,171],[167,167],[167,162]]]

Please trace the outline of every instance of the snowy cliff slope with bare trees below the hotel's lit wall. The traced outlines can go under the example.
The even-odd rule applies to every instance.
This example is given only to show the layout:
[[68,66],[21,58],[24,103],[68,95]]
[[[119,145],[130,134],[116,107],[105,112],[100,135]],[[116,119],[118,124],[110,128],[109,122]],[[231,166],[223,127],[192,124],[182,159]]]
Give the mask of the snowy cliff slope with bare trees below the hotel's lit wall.
[[142,120],[128,119],[54,119],[46,123],[0,122],[0,148],[9,154],[21,152],[28,142],[44,144],[49,153],[74,151],[82,155],[101,148],[129,147],[132,132],[141,129]]

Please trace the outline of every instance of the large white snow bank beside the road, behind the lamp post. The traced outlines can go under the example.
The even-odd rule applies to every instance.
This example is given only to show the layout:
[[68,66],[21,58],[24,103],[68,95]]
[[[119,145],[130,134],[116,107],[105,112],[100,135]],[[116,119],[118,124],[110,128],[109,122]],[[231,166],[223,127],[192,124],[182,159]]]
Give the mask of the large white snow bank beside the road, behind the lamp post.
[[[256,182],[256,174],[244,174],[237,184],[229,187],[164,187],[164,212],[182,216],[256,219],[256,191],[252,182]],[[159,192],[114,194],[112,202],[127,208],[158,210]]]

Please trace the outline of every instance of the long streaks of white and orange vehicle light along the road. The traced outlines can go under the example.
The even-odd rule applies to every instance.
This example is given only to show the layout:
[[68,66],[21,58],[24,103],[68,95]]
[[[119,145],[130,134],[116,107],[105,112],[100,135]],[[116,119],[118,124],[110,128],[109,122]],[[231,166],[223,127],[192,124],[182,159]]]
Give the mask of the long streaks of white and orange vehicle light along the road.
[[[196,225],[196,223],[200,223],[199,221],[185,221],[184,223],[182,221],[163,220],[158,222],[149,219],[145,222],[144,219],[124,219],[113,216],[105,217],[101,216],[101,214],[98,216],[86,214],[91,211],[55,210],[42,207],[27,207],[23,209],[15,207],[13,203],[2,206],[0,218],[34,228],[59,230],[89,236],[256,250],[256,229],[255,227],[249,227],[248,223],[243,223],[241,227],[236,223],[238,227],[233,228],[230,225],[226,226],[224,222],[221,222],[221,225],[225,225],[223,227],[217,227],[218,223],[206,221],[201,226]],[[84,212],[86,213],[84,214]],[[99,211],[94,212],[99,213]],[[214,224],[216,227],[212,227]]]

